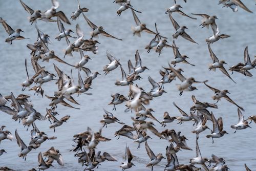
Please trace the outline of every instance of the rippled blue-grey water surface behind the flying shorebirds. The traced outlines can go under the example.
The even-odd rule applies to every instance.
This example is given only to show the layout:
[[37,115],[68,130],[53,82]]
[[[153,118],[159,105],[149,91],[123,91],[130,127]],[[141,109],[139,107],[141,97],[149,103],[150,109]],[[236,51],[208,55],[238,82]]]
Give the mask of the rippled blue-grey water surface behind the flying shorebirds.
[[[51,1],[24,1],[32,9],[46,10],[51,7]],[[59,1],[60,8],[70,17],[71,12],[74,12],[77,8],[76,1]],[[235,65],[238,62],[243,61],[243,53],[246,46],[249,46],[249,54],[251,59],[256,54],[256,44],[255,44],[255,3],[254,1],[244,1],[245,5],[252,10],[254,13],[250,14],[241,8],[237,13],[233,13],[230,9],[222,8],[221,5],[218,6],[218,1],[211,0],[189,0],[188,3],[184,4],[183,1],[178,1],[182,7],[183,11],[187,14],[191,12],[194,13],[207,13],[210,15],[217,15],[219,20],[217,20],[217,25],[220,28],[222,34],[228,34],[231,37],[227,39],[219,40],[211,46],[212,50],[215,52],[219,59],[224,59],[228,65],[226,68]],[[154,23],[158,24],[158,30],[162,35],[168,37],[168,41],[172,42],[172,34],[174,33],[174,28],[170,23],[169,17],[165,14],[165,8],[172,6],[172,1],[132,1],[132,5],[135,9],[142,11],[138,14],[141,22],[147,24],[147,27],[154,30]],[[147,81],[147,77],[150,75],[155,80],[160,80],[159,70],[162,66],[167,67],[167,62],[173,60],[172,49],[164,49],[163,53],[158,57],[157,53],[153,51],[149,54],[144,50],[145,45],[150,42],[153,38],[152,35],[147,33],[142,33],[141,37],[136,37],[132,35],[131,26],[135,26],[135,22],[130,10],[124,11],[120,17],[117,16],[116,11],[119,6],[113,4],[112,1],[81,1],[82,7],[87,7],[90,9],[86,15],[88,18],[96,25],[101,25],[104,27],[105,31],[113,34],[116,37],[122,38],[123,41],[116,39],[111,39],[107,37],[100,36],[99,42],[99,52],[98,54],[88,53],[93,60],[87,63],[87,67],[92,71],[99,71],[101,74],[102,68],[109,61],[106,58],[105,51],[110,50],[111,54],[117,59],[120,59],[122,67],[127,72],[127,60],[131,59],[135,63],[134,54],[138,49],[140,56],[142,58],[142,65],[147,66],[150,70],[145,71],[141,74],[142,80],[136,83],[143,87],[146,91],[150,91],[150,83]],[[3,95],[9,95],[11,92],[17,96],[20,93],[22,83],[26,79],[26,72],[24,61],[27,58],[30,61],[30,51],[27,49],[26,44],[32,44],[37,35],[34,25],[30,26],[27,16],[28,13],[23,9],[18,1],[0,1],[0,16],[2,16],[7,23],[13,28],[21,28],[25,31],[22,35],[29,37],[30,39],[17,40],[13,42],[10,46],[4,42],[7,37],[6,32],[1,26],[0,32],[0,75],[1,84],[0,90]],[[234,73],[232,78],[237,82],[234,84],[229,78],[224,76],[220,71],[209,72],[208,63],[212,62],[209,56],[208,48],[205,43],[205,38],[212,35],[211,29],[200,29],[200,20],[193,20],[187,17],[181,16],[179,14],[173,14],[174,18],[180,25],[186,25],[188,27],[187,33],[199,43],[199,45],[193,44],[182,38],[176,40],[176,45],[180,48],[181,54],[186,54],[190,57],[189,61],[194,63],[196,67],[191,67],[189,65],[178,64],[177,67],[181,67],[185,73],[185,77],[194,76],[197,80],[209,80],[209,84],[212,87],[218,89],[228,89],[231,92],[230,98],[232,98],[239,105],[243,106],[245,112],[243,112],[245,118],[249,115],[255,115],[255,97],[253,90],[255,90],[255,77],[249,78],[242,74]],[[75,30],[75,25],[79,23],[82,31],[86,38],[89,38],[89,33],[91,28],[87,25],[82,16],[78,20],[72,22],[71,26],[65,25],[66,29]],[[51,36],[50,49],[55,51],[60,58],[63,57],[63,49],[67,47],[65,40],[56,41],[54,37],[58,35],[58,29],[56,23],[45,23],[39,21],[37,23],[41,31],[48,33]],[[73,41],[73,40],[72,40]],[[66,57],[66,60],[70,63],[75,63],[80,60],[79,53],[74,53],[74,57]],[[53,62],[65,73],[70,74],[71,67],[67,67],[58,63],[56,61],[51,61],[49,63],[40,61],[42,66],[46,66],[48,71],[55,72],[53,69]],[[28,65],[28,72],[31,76],[33,74],[32,66]],[[253,75],[256,75],[255,70],[251,71]],[[75,80],[77,80],[77,74],[74,73]],[[82,73],[85,77],[85,74]],[[67,123],[63,123],[62,126],[57,127],[56,132],[53,133],[49,130],[50,123],[46,121],[36,121],[36,125],[40,131],[45,131],[49,136],[58,137],[56,140],[51,140],[43,143],[36,150],[32,150],[27,156],[26,162],[22,158],[18,158],[17,154],[20,151],[16,142],[11,142],[4,140],[1,142],[0,148],[6,149],[8,154],[0,156],[0,166],[9,166],[17,170],[28,170],[32,167],[37,166],[37,155],[39,152],[45,152],[51,146],[59,149],[63,158],[65,160],[65,166],[61,167],[56,162],[54,162],[55,167],[51,167],[51,170],[82,170],[80,164],[77,163],[77,158],[74,157],[73,152],[69,152],[72,149],[74,142],[72,141],[73,135],[79,132],[87,130],[90,126],[94,131],[98,131],[99,127],[102,126],[99,122],[103,118],[103,110],[105,108],[108,111],[112,110],[112,106],[108,103],[111,101],[111,94],[120,93],[127,95],[129,87],[116,87],[114,82],[116,79],[121,79],[120,69],[116,69],[110,74],[104,76],[99,75],[94,81],[90,92],[92,96],[82,95],[78,98],[74,95],[74,98],[81,104],[78,106],[81,110],[72,110],[64,106],[58,105],[57,112],[60,116],[71,115],[71,118]],[[153,108],[155,112],[155,117],[162,120],[163,113],[168,111],[171,116],[179,116],[180,113],[173,106],[175,101],[178,106],[180,106],[185,112],[189,113],[189,108],[193,104],[191,100],[191,95],[195,95],[200,101],[214,102],[211,99],[213,95],[212,92],[206,88],[203,84],[197,84],[199,91],[184,92],[180,97],[176,89],[176,83],[179,80],[173,81],[170,84],[165,84],[164,88],[167,94],[161,97],[155,98],[148,108]],[[57,86],[53,82],[48,82],[42,86],[45,90],[45,94],[52,96],[53,91],[57,90]],[[33,92],[24,92],[25,94],[31,95],[30,100],[32,100],[35,109],[42,115],[46,114],[46,108],[48,108],[49,99],[41,98],[40,96],[34,96]],[[236,134],[231,130],[230,125],[236,124],[238,121],[237,108],[235,105],[230,104],[226,100],[221,100],[218,103],[219,109],[212,110],[215,116],[223,117],[224,130],[226,130],[230,135],[225,135],[220,139],[215,139],[215,143],[211,143],[211,139],[205,138],[205,135],[209,134],[209,130],[200,134],[199,146],[201,153],[204,157],[210,158],[211,154],[215,154],[219,157],[223,157],[226,160],[226,164],[231,170],[244,170],[244,163],[246,163],[250,168],[256,167],[255,164],[255,153],[254,148],[255,136],[255,125],[251,124],[252,129],[239,130]],[[117,105],[116,112],[113,114],[119,118],[122,122],[128,125],[132,125],[131,116],[134,114],[124,112],[124,104]],[[20,137],[24,140],[26,144],[30,141],[30,132],[26,131],[22,124],[14,122],[11,116],[1,112],[0,125],[6,125],[6,129],[15,132],[18,130]],[[193,148],[193,151],[181,151],[178,153],[178,158],[180,163],[188,163],[190,158],[196,156],[195,146],[196,136],[191,134],[193,130],[192,122],[184,123],[182,125],[176,124],[177,121],[169,123],[165,129],[175,129],[176,132],[181,131],[182,135],[185,135],[189,141],[188,146]],[[211,122],[207,123],[209,127],[212,127]],[[164,129],[156,123],[156,128],[159,131]],[[141,145],[141,149],[137,150],[137,143],[125,137],[121,137],[116,140],[114,137],[115,131],[120,129],[122,125],[114,123],[108,126],[107,129],[103,129],[103,136],[111,138],[112,141],[101,142],[98,144],[96,151],[108,152],[115,156],[117,162],[104,162],[99,166],[98,170],[120,170],[118,165],[123,161],[122,157],[125,153],[125,142],[130,146],[132,154],[135,156],[134,163],[136,167],[131,170],[145,170],[145,165],[149,161],[148,156],[144,148],[144,144]],[[148,132],[153,139],[148,140],[148,144],[152,148],[155,154],[163,153],[165,154],[165,147],[168,142],[165,140],[159,140],[151,132]],[[163,170],[166,161],[160,162],[159,166],[155,167],[155,170]],[[150,168],[147,168],[150,170]]]

